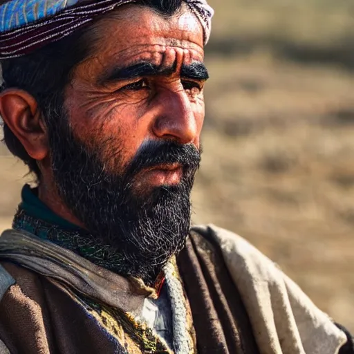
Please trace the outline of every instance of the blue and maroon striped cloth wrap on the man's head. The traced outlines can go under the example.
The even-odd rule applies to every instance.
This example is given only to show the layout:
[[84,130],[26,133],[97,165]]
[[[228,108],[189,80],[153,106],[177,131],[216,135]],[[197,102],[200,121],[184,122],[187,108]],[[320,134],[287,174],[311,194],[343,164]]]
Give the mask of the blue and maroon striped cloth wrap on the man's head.
[[[204,28],[205,44],[214,10],[207,0],[183,0]],[[140,0],[0,0],[0,59],[26,55],[71,35],[97,15]]]

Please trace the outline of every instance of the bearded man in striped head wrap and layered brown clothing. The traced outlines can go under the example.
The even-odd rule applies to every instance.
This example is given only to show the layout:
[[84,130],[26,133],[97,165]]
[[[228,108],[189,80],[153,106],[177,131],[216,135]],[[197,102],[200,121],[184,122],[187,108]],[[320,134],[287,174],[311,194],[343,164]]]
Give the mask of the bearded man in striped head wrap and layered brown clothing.
[[37,178],[0,237],[1,353],[354,353],[246,241],[189,226],[212,14],[1,2],[4,140]]

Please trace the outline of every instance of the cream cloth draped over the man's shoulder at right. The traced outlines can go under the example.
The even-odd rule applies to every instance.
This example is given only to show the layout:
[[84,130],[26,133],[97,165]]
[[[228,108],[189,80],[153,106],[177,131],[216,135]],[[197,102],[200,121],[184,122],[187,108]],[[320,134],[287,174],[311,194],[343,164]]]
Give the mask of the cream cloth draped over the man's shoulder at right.
[[239,289],[257,344],[277,353],[354,354],[352,336],[319,310],[278,265],[241,236],[215,225],[194,226],[218,252]]

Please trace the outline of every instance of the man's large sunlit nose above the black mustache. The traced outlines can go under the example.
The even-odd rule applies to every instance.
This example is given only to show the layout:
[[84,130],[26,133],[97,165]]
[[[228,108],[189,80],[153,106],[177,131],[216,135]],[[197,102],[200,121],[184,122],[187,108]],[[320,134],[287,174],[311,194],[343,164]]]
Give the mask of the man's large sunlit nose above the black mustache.
[[153,122],[158,138],[189,144],[196,140],[198,129],[192,103],[185,91],[168,91],[160,100],[160,109]]

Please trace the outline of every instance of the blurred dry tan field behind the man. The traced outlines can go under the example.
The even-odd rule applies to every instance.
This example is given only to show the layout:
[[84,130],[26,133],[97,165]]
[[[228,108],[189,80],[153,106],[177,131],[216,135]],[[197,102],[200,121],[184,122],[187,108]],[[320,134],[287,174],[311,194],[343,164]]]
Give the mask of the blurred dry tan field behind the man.
[[[209,3],[193,221],[244,236],[354,332],[354,2]],[[0,151],[3,229],[28,178]]]

